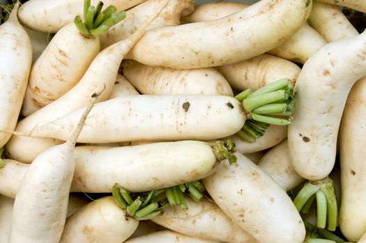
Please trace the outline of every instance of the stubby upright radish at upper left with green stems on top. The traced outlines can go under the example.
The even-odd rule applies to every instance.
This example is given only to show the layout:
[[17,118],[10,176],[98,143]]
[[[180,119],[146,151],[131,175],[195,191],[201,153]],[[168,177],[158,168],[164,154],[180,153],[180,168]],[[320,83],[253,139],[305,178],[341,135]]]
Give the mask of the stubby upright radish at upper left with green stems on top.
[[[22,106],[24,117],[72,89],[100,52],[99,35],[126,16],[125,12],[114,13],[115,6],[104,11],[102,6],[102,2],[90,6],[90,1],[85,0],[86,20],[81,22],[78,15],[73,23],[61,28],[33,64]],[[101,21],[100,15],[104,15]]]

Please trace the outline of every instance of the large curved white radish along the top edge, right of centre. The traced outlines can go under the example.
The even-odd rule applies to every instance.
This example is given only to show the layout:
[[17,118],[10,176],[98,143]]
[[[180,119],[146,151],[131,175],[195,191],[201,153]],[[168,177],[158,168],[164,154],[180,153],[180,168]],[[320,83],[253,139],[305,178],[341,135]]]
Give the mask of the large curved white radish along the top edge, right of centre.
[[308,3],[264,0],[210,22],[157,28],[145,33],[127,58],[177,69],[228,65],[253,58],[298,31],[310,14],[311,1]]

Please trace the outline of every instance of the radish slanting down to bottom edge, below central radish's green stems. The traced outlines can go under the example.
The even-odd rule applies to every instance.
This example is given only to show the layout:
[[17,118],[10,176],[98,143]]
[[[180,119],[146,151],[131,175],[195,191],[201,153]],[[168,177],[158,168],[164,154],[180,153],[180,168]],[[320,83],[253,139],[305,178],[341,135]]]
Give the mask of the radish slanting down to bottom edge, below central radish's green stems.
[[212,199],[258,242],[302,243],[305,226],[294,203],[276,181],[248,158],[235,153],[202,180]]

